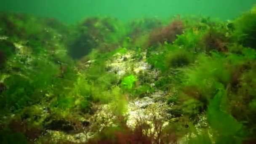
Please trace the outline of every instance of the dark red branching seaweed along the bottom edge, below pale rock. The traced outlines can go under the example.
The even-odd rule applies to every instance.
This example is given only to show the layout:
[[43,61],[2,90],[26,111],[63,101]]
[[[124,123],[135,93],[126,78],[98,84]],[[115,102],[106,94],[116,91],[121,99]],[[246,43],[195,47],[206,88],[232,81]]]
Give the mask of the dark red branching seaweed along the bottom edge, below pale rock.
[[138,120],[136,127],[131,128],[125,123],[120,128],[111,129],[102,132],[99,137],[90,139],[87,144],[176,144],[177,136],[168,128],[163,130],[163,123],[160,120],[154,120],[154,131],[152,127]]

